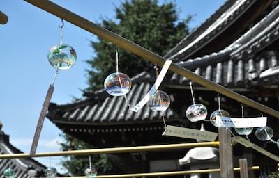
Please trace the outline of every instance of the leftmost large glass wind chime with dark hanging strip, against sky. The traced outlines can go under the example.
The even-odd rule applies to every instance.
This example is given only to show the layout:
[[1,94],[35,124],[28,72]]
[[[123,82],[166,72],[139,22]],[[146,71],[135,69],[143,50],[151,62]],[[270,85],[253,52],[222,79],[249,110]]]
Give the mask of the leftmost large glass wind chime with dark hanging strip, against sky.
[[70,67],[72,67],[75,64],[75,61],[77,60],[77,54],[75,52],[75,49],[71,47],[68,44],[63,44],[62,42],[62,28],[64,26],[63,19],[61,19],[62,25],[59,26],[60,29],[60,43],[54,45],[50,48],[50,51],[47,54],[47,59],[50,62],[50,65],[56,69],[56,72],[54,74],[54,79],[52,81],[52,84],[47,90],[47,95],[45,97],[45,101],[43,103],[43,108],[40,112],[40,117],[38,119],[38,124],[36,127],[35,135],[33,138],[33,143],[31,145],[31,151],[30,156],[33,157],[36,154],[36,149],[38,146],[38,140],[40,137],[40,132],[43,127],[43,122],[45,120],[45,115],[47,113],[48,106],[50,105],[50,100],[52,98],[52,94],[54,92],[54,83],[56,80],[56,75],[58,74],[59,70],[68,70]]

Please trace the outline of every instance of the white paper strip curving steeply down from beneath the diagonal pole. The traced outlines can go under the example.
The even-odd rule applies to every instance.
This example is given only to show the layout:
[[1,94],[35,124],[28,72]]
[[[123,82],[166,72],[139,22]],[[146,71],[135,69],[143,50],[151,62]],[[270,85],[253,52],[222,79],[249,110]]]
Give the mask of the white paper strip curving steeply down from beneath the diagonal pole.
[[167,74],[167,70],[169,70],[169,65],[171,65],[172,60],[166,60],[165,64],[163,65],[162,70],[160,71],[160,74],[158,78],[156,79],[155,83],[153,84],[152,88],[149,90],[149,92],[144,96],[144,98],[136,104],[133,108],[130,108],[131,111],[137,112],[142,108],[148,101],[151,99],[152,95],[156,92],[156,90],[159,88],[160,84],[162,83],[165,74]]

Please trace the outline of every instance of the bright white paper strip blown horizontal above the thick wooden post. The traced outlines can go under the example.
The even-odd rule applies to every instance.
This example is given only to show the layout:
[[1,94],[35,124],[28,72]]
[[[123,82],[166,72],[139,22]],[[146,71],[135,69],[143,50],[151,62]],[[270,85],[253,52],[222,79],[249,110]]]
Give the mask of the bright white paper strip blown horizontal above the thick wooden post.
[[266,117],[257,118],[229,118],[216,115],[216,127],[234,127],[234,128],[247,128],[247,127],[264,127],[266,126]]

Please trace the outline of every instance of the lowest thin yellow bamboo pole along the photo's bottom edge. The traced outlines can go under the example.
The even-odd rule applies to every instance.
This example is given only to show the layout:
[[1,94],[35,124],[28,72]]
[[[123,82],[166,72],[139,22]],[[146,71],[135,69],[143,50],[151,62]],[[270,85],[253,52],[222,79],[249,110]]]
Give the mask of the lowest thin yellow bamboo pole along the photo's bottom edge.
[[[252,166],[248,168],[250,170],[259,170],[259,166]],[[234,171],[239,171],[241,168],[234,168]],[[169,172],[149,172],[149,173],[135,173],[135,174],[123,174],[123,175],[97,175],[96,178],[121,178],[121,177],[163,177],[174,175],[190,175],[190,174],[202,174],[209,172],[220,172],[220,168],[206,169],[206,170],[182,170],[182,171],[169,171]],[[63,177],[66,178],[66,177]],[[85,176],[71,177],[71,178],[86,178]]]

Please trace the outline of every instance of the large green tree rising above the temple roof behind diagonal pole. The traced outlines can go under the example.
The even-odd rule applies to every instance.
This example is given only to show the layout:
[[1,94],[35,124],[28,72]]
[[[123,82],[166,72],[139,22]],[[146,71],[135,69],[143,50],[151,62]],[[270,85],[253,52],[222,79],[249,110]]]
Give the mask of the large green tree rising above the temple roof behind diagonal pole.
[[[179,20],[174,3],[158,5],[157,0],[126,0],[115,8],[116,20],[103,19],[100,26],[121,35],[140,46],[164,56],[189,33],[191,17]],[[152,65],[146,60],[116,45],[98,38],[91,42],[96,57],[86,60],[91,69],[88,72],[88,91],[103,88],[106,76],[116,71],[115,50],[119,51],[119,72],[132,77]]]

